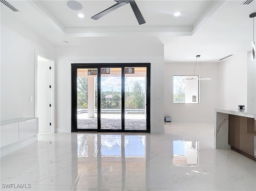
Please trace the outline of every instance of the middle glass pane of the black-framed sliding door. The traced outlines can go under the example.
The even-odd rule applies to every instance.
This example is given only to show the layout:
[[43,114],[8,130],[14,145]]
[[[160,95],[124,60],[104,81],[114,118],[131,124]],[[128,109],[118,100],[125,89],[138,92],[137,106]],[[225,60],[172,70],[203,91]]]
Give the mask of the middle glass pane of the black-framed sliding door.
[[101,68],[101,129],[122,129],[122,68]]

